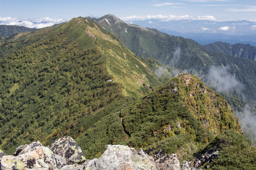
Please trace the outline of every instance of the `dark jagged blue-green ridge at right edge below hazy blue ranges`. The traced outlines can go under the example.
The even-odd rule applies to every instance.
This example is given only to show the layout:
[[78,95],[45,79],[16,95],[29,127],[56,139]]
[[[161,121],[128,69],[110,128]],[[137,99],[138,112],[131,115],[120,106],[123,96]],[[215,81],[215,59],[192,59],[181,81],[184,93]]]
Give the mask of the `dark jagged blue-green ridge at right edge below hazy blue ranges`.
[[228,44],[222,43],[221,41],[206,44],[202,46],[206,50],[221,52],[223,54],[232,55],[236,58],[247,58],[256,61],[256,47],[251,46],[250,44]]

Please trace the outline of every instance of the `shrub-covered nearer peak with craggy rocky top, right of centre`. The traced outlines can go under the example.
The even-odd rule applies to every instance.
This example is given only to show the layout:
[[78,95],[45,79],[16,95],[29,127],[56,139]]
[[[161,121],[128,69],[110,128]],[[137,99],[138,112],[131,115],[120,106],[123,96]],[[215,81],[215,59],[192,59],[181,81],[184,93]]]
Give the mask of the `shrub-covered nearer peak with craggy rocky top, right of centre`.
[[178,74],[151,94],[112,111],[76,141],[90,159],[109,143],[142,147],[151,155],[164,150],[188,158],[228,129],[242,134],[223,97],[196,76]]

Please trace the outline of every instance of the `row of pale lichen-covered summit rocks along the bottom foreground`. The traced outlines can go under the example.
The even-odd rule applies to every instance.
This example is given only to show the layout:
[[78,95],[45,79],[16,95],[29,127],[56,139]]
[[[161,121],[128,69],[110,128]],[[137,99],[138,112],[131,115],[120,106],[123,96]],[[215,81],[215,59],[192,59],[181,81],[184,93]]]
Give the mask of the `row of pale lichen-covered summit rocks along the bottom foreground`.
[[[200,170],[180,164],[176,154],[156,159],[145,151],[123,145],[107,145],[97,159],[85,159],[71,137],[56,139],[50,146],[39,141],[19,146],[13,155],[0,151],[1,170]],[[154,161],[155,160],[155,161]],[[80,165],[79,165],[80,164]]]

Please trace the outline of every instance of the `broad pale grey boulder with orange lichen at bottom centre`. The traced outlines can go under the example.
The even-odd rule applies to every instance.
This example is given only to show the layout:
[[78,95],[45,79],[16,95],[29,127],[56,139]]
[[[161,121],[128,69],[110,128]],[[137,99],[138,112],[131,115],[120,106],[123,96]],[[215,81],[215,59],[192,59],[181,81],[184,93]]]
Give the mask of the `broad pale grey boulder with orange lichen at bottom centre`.
[[143,154],[139,156],[133,148],[122,145],[107,145],[105,148],[107,150],[88,170],[156,170],[154,165],[142,156]]

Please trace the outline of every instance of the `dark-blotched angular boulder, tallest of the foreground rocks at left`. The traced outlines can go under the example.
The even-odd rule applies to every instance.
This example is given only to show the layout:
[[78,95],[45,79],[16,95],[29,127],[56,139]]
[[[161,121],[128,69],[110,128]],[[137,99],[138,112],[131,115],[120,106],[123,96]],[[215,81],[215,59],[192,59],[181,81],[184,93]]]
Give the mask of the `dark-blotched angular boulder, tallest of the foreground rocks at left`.
[[81,148],[71,137],[56,139],[48,147],[54,154],[64,157],[67,164],[81,164],[86,160]]

